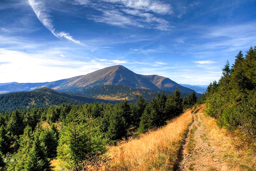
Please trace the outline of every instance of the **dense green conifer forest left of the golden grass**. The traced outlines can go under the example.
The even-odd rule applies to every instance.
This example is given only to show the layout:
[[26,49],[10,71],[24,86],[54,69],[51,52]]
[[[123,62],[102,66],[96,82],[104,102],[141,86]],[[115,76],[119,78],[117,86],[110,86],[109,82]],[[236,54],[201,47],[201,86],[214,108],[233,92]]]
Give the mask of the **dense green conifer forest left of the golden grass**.
[[94,102],[3,112],[0,168],[50,171],[50,160],[57,158],[67,170],[83,170],[83,163],[103,155],[107,144],[161,127],[196,100],[195,92],[182,98],[176,89],[150,102],[140,96],[135,104]]

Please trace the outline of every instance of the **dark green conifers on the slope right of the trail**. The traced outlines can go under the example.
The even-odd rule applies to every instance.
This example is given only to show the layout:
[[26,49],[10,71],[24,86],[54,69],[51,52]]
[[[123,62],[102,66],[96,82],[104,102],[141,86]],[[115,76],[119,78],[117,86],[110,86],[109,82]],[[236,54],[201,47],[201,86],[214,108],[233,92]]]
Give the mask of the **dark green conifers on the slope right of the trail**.
[[218,119],[221,127],[241,129],[256,137],[256,47],[244,56],[240,51],[234,64],[229,61],[223,75],[211,83],[203,98],[206,114]]

